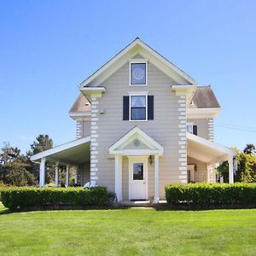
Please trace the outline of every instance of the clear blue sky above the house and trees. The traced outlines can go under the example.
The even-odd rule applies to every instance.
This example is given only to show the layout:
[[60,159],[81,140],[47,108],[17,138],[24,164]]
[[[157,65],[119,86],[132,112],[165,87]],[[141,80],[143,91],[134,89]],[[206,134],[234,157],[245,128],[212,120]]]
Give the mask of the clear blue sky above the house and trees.
[[255,10],[256,1],[0,0],[0,143],[25,152],[40,133],[72,140],[77,85],[140,37],[212,84],[218,143],[256,144]]

